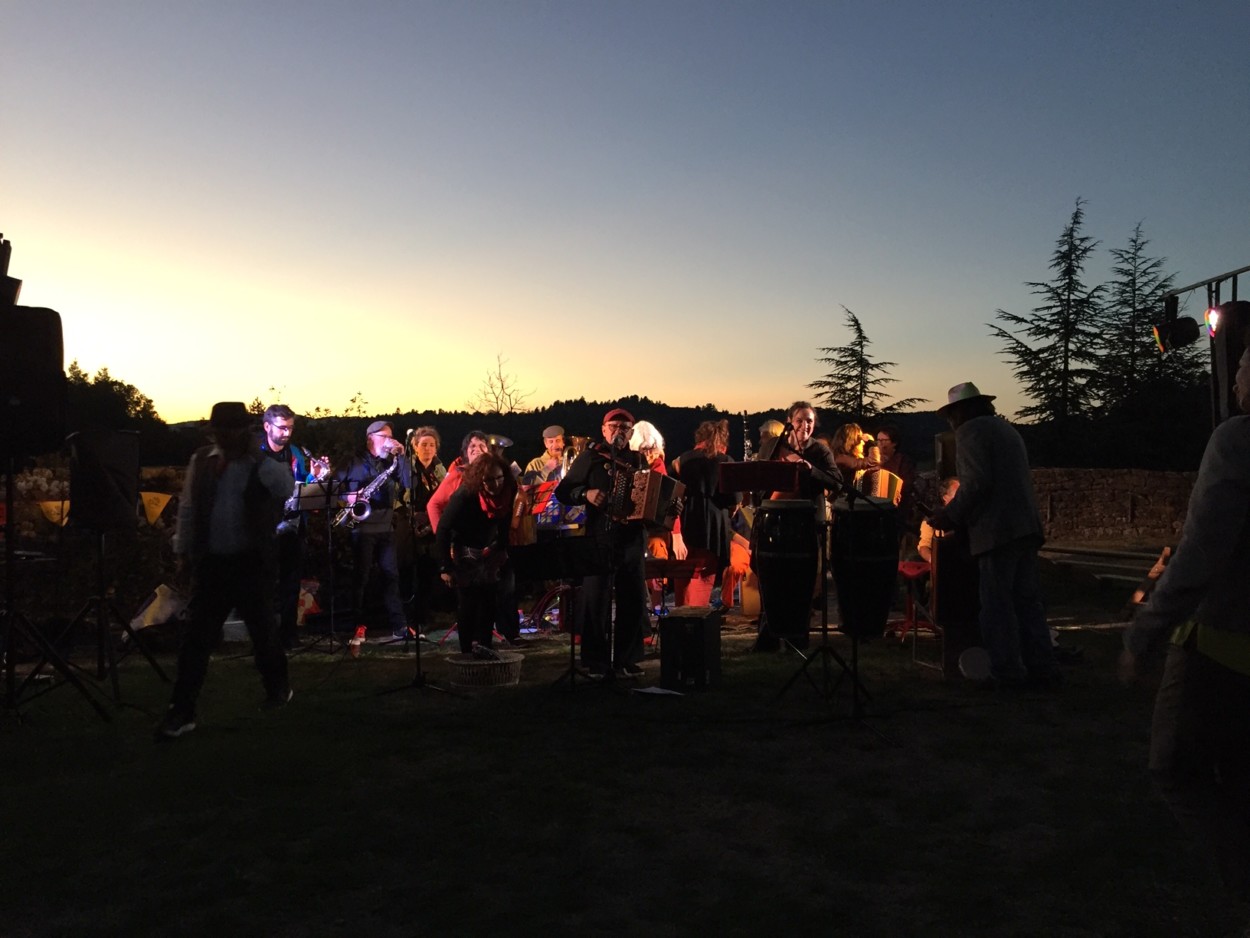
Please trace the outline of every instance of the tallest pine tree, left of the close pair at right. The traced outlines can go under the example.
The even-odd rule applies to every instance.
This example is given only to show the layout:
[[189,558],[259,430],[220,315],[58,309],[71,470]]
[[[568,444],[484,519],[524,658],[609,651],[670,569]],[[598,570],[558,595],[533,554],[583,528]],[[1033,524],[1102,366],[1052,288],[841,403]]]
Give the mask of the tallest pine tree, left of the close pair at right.
[[1002,340],[1002,356],[1012,363],[1012,374],[1024,384],[1032,404],[1019,416],[1065,424],[1092,409],[1092,378],[1098,363],[1099,316],[1102,286],[1086,288],[1081,279],[1085,263],[1098,241],[1081,234],[1085,201],[1076,208],[1055,244],[1049,283],[1028,283],[1042,298],[1030,315],[996,310],[995,318],[1009,328],[990,324]]

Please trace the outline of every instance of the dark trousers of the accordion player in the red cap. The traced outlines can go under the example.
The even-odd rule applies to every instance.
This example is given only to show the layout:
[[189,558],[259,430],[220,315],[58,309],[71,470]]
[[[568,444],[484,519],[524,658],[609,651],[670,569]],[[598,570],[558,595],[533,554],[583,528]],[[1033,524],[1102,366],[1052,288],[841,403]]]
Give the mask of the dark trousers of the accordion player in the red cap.
[[[581,629],[581,662],[586,667],[620,668],[642,659],[642,634],[648,625],[645,549],[641,530],[616,549],[612,574],[586,577],[576,603]],[[608,632],[612,599],[616,599],[616,629],[609,660]]]

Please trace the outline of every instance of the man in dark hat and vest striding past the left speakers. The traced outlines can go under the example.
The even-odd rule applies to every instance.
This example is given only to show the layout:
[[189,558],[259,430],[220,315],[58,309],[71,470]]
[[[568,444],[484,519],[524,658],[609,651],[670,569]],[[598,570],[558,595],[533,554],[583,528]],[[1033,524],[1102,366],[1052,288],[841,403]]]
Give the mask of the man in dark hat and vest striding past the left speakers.
[[241,401],[212,405],[212,445],[191,456],[178,507],[174,554],[179,570],[190,567],[190,623],[178,655],[174,693],[158,739],[195,729],[195,703],[221,642],[226,615],[236,609],[251,637],[266,705],[291,698],[286,654],[278,637],[272,589],[276,529],[294,488],[289,469],[251,445],[251,414]]

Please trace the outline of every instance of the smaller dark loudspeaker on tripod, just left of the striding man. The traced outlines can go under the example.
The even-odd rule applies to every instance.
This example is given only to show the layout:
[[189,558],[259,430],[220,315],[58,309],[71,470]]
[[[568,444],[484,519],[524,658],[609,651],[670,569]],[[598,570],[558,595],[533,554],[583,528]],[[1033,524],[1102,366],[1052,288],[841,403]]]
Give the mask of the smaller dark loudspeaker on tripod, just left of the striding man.
[[92,532],[138,524],[139,431],[82,430],[70,444],[70,524]]

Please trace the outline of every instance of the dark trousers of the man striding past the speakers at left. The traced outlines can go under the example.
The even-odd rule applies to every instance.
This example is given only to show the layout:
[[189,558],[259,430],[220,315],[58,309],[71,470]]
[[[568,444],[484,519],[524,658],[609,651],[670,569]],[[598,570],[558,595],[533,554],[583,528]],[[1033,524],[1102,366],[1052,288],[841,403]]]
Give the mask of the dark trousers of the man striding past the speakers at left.
[[221,643],[221,627],[231,609],[239,612],[248,634],[265,694],[285,697],[286,654],[278,638],[272,607],[274,563],[256,552],[245,554],[208,554],[191,572],[190,623],[178,655],[172,707],[195,713],[195,702],[209,670],[209,655]]

